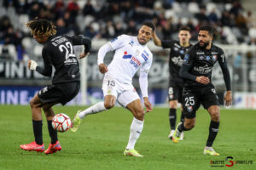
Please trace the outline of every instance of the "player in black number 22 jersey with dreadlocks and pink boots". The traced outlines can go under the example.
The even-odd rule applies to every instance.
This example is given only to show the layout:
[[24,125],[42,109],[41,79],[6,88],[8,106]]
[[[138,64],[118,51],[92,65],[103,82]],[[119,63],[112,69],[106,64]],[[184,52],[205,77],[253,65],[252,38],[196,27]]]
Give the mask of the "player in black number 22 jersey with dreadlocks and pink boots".
[[20,148],[44,151],[41,111],[43,109],[51,138],[49,148],[44,153],[52,154],[61,150],[57,132],[51,125],[55,116],[52,106],[58,103],[65,105],[79,93],[79,62],[74,54],[73,46],[84,45],[84,53],[79,55],[82,59],[90,53],[91,42],[90,39],[84,37],[69,37],[67,35],[55,37],[55,26],[48,20],[32,20],[26,26],[31,30],[34,39],[44,45],[42,51],[44,67],[38,66],[34,60],[29,60],[28,69],[38,71],[45,77],[51,77],[52,66],[55,67],[55,72],[52,84],[41,89],[30,101],[35,141],[30,144],[22,144]]

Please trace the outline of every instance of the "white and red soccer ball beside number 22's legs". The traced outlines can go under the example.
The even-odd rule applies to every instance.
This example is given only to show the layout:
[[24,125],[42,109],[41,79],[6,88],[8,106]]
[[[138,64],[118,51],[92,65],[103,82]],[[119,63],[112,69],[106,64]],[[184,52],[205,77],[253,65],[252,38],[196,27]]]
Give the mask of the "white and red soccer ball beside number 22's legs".
[[64,133],[71,127],[71,120],[66,114],[59,113],[54,116],[51,124],[58,132]]

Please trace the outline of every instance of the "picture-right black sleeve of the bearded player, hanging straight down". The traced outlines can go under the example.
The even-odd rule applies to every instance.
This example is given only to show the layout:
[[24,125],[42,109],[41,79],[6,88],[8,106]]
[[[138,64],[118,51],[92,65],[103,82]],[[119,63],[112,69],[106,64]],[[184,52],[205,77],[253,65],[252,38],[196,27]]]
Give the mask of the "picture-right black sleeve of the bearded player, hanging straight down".
[[220,57],[218,57],[218,63],[223,72],[226,89],[227,91],[230,91],[231,90],[230,71],[229,71],[223,50],[221,50]]

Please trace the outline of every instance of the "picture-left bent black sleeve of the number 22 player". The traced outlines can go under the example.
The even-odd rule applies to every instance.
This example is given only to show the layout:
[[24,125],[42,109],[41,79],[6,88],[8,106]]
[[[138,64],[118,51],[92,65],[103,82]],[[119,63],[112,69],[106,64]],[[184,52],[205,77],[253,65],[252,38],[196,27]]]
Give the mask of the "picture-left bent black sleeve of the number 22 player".
[[44,77],[51,77],[51,61],[49,59],[49,54],[47,53],[45,48],[43,48],[42,55],[44,59],[44,67],[37,66],[36,71],[38,71]]

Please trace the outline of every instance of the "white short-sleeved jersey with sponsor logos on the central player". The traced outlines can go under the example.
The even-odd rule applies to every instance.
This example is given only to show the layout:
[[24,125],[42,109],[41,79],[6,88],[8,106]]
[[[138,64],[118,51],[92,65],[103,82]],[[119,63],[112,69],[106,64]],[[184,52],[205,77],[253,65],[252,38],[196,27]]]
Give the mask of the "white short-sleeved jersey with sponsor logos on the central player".
[[119,82],[131,84],[137,70],[148,72],[153,54],[147,45],[138,42],[137,37],[121,35],[109,42],[115,50],[113,60],[108,65],[107,74]]

